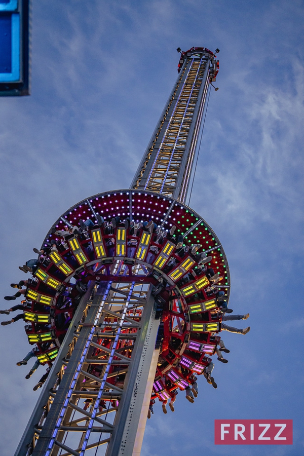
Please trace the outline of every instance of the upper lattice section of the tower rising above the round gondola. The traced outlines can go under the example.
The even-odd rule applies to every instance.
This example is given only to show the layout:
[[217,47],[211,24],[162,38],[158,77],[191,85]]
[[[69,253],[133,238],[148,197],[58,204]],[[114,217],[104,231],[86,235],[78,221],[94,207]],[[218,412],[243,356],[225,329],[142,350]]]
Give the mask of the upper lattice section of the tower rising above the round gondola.
[[209,52],[189,54],[131,184],[181,202],[186,199],[209,81],[216,69]]

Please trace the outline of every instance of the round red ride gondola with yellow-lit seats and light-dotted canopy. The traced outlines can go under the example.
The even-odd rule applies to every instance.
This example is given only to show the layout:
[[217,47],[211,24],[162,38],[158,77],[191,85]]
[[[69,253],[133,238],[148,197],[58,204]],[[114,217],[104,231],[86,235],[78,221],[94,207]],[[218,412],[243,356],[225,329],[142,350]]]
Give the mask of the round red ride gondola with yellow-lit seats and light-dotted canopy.
[[[117,216],[122,222],[113,229],[110,225],[105,228],[106,223],[98,225],[96,214],[105,222]],[[128,228],[124,225],[127,218],[131,219]],[[91,219],[94,226],[77,237],[65,238],[65,246],[62,244],[58,252],[51,251],[40,257],[34,280],[28,286],[25,320],[29,343],[35,343],[39,349],[37,358],[40,362],[50,364],[91,281],[119,283],[118,301],[124,293],[129,293],[133,283],[134,304],[129,306],[126,316],[135,322],[143,311],[148,285],[153,284],[156,312],[161,319],[157,337],[160,356],[153,397],[165,400],[169,396],[161,377],[166,373],[172,390],[176,387],[185,389],[189,375],[203,373],[211,361],[208,355],[214,354],[219,341],[216,334],[220,331],[220,303],[212,289],[210,291],[213,282],[205,272],[202,273],[199,262],[199,254],[208,252],[211,258],[206,265],[222,278],[216,286],[225,292],[228,300],[229,268],[219,240],[210,226],[184,204],[151,192],[128,189],[99,194],[73,206],[56,221],[45,242],[63,239],[52,231],[63,230],[64,226],[79,227],[80,219]],[[149,220],[153,220],[160,230],[150,233],[139,225],[134,233],[133,223],[143,224]],[[172,226],[176,229],[171,236]],[[176,246],[178,236],[183,237],[183,247],[188,246],[188,249]],[[191,253],[192,246],[197,244],[201,247]],[[115,296],[112,296],[111,306],[113,315],[109,308],[100,324],[98,344],[103,347],[109,346],[107,335],[111,325],[119,322],[118,314],[115,314]],[[127,325],[124,329],[122,326],[121,332],[126,336],[117,349],[130,358],[130,340],[136,328]],[[104,354],[104,350],[95,348],[93,357],[102,360]],[[123,363],[122,359],[117,358],[117,361]],[[178,363],[183,366],[182,371],[177,370]],[[116,382],[119,380],[123,386],[124,376],[116,378]]]

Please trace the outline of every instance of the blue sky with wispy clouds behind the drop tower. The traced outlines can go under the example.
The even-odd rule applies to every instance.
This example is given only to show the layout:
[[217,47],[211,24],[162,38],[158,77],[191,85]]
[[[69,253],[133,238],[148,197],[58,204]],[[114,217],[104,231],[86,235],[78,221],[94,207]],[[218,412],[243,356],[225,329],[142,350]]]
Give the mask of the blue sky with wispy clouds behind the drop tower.
[[[175,413],[155,406],[143,456],[303,453],[303,23],[300,0],[32,2],[31,96],[0,101],[3,295],[61,213],[130,185],[176,80],[176,48],[220,49],[190,205],[221,240],[230,306],[250,313],[251,331],[223,334],[217,390],[200,378],[194,404],[180,394]],[[0,338],[10,456],[42,372],[25,380],[16,366],[28,352],[20,321]],[[216,446],[221,418],[292,419],[294,444]]]

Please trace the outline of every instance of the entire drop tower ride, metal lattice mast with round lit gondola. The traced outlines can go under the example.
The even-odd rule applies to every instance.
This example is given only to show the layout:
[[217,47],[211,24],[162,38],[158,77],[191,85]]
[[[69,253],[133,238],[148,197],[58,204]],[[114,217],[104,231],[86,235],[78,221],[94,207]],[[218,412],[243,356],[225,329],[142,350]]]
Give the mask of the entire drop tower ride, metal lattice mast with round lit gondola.
[[192,48],[178,70],[130,189],[71,207],[43,243],[24,319],[52,368],[15,456],[137,455],[151,395],[166,403],[210,366],[229,269],[184,203],[218,62]]

